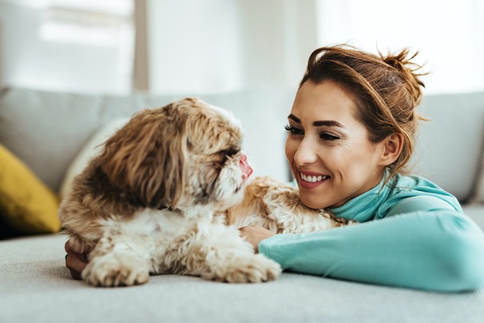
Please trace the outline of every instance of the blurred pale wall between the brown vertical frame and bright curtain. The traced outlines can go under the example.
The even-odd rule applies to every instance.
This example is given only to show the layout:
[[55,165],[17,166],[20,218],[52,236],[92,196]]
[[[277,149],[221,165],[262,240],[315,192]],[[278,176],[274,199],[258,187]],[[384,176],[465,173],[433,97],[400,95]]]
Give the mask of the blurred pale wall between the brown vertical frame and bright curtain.
[[156,93],[294,89],[317,43],[313,0],[147,0]]

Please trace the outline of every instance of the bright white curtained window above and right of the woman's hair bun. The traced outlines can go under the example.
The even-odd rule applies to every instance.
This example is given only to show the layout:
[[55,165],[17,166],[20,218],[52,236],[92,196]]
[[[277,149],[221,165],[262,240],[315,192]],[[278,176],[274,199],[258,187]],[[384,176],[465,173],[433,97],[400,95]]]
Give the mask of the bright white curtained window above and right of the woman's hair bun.
[[315,1],[318,46],[409,47],[430,72],[425,93],[484,90],[483,0]]

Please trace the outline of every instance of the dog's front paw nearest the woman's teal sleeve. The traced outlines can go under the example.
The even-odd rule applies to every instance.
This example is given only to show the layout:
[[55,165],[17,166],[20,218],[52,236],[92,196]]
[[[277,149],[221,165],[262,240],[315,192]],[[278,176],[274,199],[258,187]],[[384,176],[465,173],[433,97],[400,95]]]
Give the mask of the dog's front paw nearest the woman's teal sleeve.
[[226,261],[202,275],[205,279],[228,283],[270,282],[281,274],[281,266],[263,255],[244,255]]

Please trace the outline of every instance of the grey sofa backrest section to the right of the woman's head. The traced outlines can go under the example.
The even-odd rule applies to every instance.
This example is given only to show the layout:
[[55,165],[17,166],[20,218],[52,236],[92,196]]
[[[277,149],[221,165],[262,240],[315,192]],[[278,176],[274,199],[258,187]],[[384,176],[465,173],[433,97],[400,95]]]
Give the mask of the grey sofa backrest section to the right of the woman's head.
[[[484,150],[484,92],[424,96],[413,171],[466,201]],[[482,156],[484,158],[484,156]]]

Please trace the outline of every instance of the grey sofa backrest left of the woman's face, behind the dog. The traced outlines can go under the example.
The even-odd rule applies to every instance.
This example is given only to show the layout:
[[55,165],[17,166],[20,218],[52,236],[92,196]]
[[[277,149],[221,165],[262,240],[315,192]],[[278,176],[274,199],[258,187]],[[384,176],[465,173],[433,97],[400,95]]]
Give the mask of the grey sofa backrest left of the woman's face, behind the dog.
[[[0,143],[58,192],[64,172],[102,124],[189,95],[80,95],[4,88],[0,91]],[[200,95],[241,120],[254,174],[288,178],[284,125],[294,93],[280,89]]]

